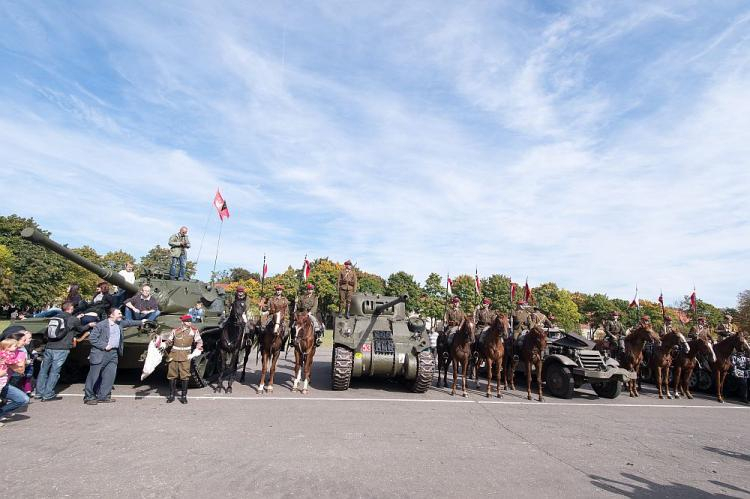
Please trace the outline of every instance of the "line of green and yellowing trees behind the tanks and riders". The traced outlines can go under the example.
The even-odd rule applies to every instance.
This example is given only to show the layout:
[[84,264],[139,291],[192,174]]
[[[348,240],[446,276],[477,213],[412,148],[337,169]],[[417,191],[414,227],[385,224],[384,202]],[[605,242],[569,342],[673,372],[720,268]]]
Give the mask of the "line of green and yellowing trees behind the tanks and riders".
[[[17,215],[0,216],[0,304],[12,303],[19,307],[41,308],[51,303],[59,303],[70,283],[79,284],[84,296],[93,294],[96,284],[100,281],[99,277],[51,251],[22,239],[19,234],[21,229],[27,226],[39,228],[32,218]],[[49,232],[43,232],[50,235]],[[170,264],[169,249],[160,245],[151,248],[139,259],[122,250],[100,255],[89,246],[71,249],[115,272],[122,269],[128,261],[136,265],[136,275],[144,269],[166,272]],[[325,315],[334,314],[338,310],[336,286],[342,267],[341,263],[328,258],[318,258],[311,262],[307,282],[315,286],[319,308]],[[420,283],[405,271],[395,272],[387,278],[358,268],[356,271],[360,291],[391,296],[407,294],[407,310],[425,317],[443,316],[447,302],[445,276],[431,273],[424,283]],[[192,277],[194,274],[195,262],[188,262],[187,275]],[[259,301],[262,296],[270,295],[276,284],[281,284],[287,298],[293,300],[304,290],[305,285],[302,269],[292,266],[265,279],[261,279],[257,272],[236,267],[218,273],[215,280],[230,294],[234,293],[237,286],[244,286],[253,302]],[[452,291],[453,295],[461,299],[461,306],[467,312],[471,312],[479,305],[481,299],[486,297],[492,301],[493,309],[508,314],[514,307],[510,297],[510,282],[510,278],[502,274],[484,277],[481,279],[482,295],[479,296],[475,291],[474,276],[459,275],[453,279]],[[657,301],[641,300],[640,310],[636,310],[629,307],[627,300],[609,298],[599,293],[571,292],[553,282],[531,288],[531,292],[534,297],[533,304],[545,313],[555,315],[558,324],[569,331],[577,331],[581,323],[596,327],[613,311],[620,312],[626,326],[635,324],[642,314],[649,315],[657,328],[663,324],[661,307]],[[523,290],[519,287],[517,298],[522,296]],[[679,303],[666,307],[666,312],[672,316],[675,324],[685,324],[692,318],[689,297],[686,295]],[[740,293],[737,308],[722,309],[698,299],[697,312],[699,315],[705,315],[712,327],[722,322],[725,313],[731,313],[736,316],[736,322],[743,329],[749,330],[750,290]]]

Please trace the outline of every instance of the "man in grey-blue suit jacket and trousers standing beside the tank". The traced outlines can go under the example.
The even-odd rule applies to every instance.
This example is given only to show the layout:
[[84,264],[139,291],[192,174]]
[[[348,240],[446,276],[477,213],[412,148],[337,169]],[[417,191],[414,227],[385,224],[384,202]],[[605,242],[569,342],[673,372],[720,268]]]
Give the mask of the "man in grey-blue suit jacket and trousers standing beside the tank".
[[146,322],[145,319],[123,321],[120,309],[112,307],[109,310],[109,316],[97,323],[91,330],[89,336],[91,342],[90,367],[84,388],[84,404],[96,405],[100,402],[115,402],[111,396],[112,385],[117,375],[117,362],[123,352],[121,328],[139,326],[144,322]]

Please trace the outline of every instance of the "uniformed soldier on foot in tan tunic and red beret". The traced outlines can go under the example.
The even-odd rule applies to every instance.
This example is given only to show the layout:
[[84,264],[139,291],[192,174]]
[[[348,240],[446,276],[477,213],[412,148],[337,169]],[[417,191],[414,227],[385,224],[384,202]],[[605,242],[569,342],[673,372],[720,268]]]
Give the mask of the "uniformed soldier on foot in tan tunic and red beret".
[[[193,326],[193,317],[185,314],[180,317],[182,325],[169,332],[166,340],[167,350],[167,379],[169,380],[169,396],[167,403],[174,402],[177,395],[177,380],[180,380],[182,394],[180,403],[187,404],[187,385],[190,380],[190,361],[203,353],[203,340],[198,328]],[[157,337],[156,346],[160,346],[161,337]],[[195,349],[193,349],[195,345]]]

